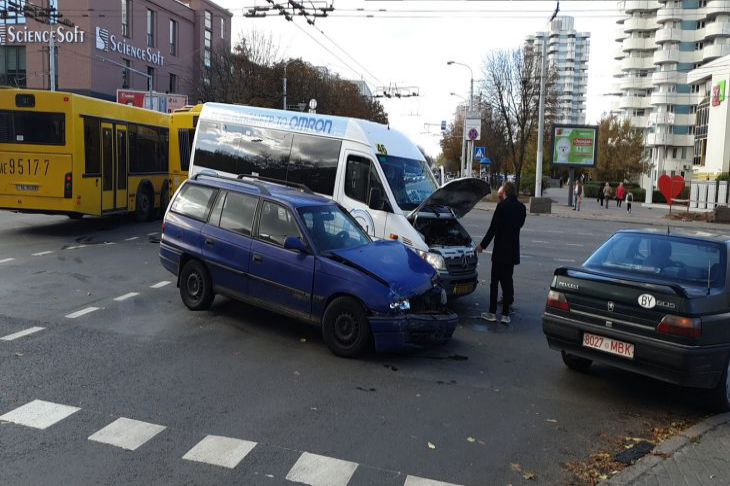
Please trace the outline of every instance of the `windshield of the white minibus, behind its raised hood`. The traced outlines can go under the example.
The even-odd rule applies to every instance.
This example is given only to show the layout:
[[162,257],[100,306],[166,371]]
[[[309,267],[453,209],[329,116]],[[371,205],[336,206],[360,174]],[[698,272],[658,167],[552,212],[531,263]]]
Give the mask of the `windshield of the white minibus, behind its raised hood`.
[[403,210],[413,210],[438,189],[428,164],[422,160],[378,155],[395,201]]

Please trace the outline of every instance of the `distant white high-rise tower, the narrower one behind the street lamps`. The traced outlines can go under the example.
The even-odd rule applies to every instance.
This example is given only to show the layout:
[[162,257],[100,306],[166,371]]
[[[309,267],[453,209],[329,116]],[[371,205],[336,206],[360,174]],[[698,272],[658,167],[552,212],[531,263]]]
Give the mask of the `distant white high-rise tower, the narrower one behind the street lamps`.
[[532,49],[540,56],[547,39],[548,65],[557,71],[555,92],[558,94],[558,113],[553,114],[555,121],[583,124],[586,119],[591,35],[576,32],[573,23],[573,17],[555,18],[550,22],[548,32],[538,32],[527,38],[525,49]]

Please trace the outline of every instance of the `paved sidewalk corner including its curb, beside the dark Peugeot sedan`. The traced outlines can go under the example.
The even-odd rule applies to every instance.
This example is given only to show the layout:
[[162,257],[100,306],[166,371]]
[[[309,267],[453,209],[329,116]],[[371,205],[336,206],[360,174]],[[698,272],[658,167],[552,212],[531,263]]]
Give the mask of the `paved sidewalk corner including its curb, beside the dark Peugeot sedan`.
[[604,486],[730,484],[730,413],[710,417],[656,447]]

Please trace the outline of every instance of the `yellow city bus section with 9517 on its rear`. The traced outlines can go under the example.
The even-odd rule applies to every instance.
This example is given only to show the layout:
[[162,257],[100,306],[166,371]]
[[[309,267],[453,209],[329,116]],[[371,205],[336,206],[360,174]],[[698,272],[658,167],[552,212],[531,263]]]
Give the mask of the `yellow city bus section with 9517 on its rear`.
[[148,220],[169,199],[170,115],[0,89],[0,209]]

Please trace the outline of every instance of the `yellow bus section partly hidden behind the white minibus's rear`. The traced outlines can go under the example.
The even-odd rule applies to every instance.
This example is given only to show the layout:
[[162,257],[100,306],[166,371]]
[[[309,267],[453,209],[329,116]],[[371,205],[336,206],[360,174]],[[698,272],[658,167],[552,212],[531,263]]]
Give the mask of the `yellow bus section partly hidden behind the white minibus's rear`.
[[186,106],[175,110],[170,115],[170,192],[175,194],[177,188],[188,178],[190,153],[195,137],[195,127],[203,105]]

